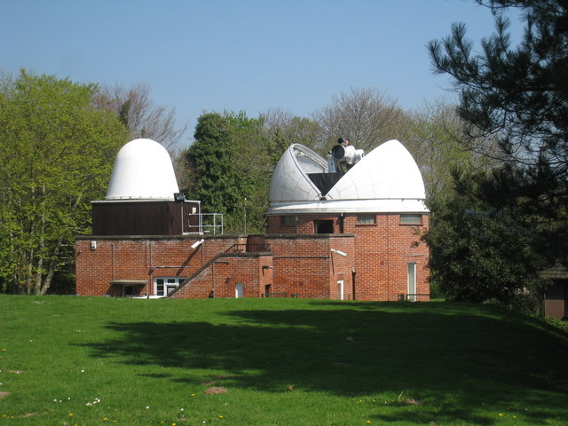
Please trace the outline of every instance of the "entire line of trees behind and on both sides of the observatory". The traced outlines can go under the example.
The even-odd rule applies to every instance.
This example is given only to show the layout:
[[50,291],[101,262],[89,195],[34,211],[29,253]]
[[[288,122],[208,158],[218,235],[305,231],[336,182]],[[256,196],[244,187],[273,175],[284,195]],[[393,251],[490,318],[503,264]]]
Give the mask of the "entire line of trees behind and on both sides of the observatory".
[[[495,33],[476,50],[466,29],[428,45],[459,105],[406,111],[378,88],[351,88],[308,117],[275,108],[202,114],[187,125],[149,88],[105,88],[22,71],[0,86],[0,288],[43,294],[70,282],[73,237],[90,232],[117,150],[131,138],[168,147],[177,180],[227,233],[263,233],[274,165],[291,143],[325,155],[339,137],[369,152],[397,138],[422,170],[431,211],[432,288],[449,298],[535,306],[540,272],[564,262],[568,59],[561,0],[477,0]],[[525,36],[512,46],[511,7]],[[245,230],[245,212],[247,215]],[[53,286],[52,286],[53,284]],[[60,286],[59,286],[60,287]]]

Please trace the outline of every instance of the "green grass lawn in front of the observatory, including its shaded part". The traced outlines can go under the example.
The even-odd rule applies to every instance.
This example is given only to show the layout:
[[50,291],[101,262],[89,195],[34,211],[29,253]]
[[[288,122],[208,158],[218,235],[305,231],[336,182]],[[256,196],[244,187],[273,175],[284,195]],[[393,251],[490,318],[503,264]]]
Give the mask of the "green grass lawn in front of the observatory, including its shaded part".
[[2,425],[564,426],[567,361],[487,305],[0,296]]

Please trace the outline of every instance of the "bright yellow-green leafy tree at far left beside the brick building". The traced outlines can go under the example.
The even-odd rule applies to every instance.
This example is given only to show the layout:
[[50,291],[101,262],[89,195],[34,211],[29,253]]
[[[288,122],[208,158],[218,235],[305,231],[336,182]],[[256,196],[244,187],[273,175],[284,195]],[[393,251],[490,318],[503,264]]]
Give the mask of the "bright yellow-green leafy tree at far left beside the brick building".
[[0,280],[44,294],[75,260],[126,131],[93,108],[95,86],[21,71],[0,88]]

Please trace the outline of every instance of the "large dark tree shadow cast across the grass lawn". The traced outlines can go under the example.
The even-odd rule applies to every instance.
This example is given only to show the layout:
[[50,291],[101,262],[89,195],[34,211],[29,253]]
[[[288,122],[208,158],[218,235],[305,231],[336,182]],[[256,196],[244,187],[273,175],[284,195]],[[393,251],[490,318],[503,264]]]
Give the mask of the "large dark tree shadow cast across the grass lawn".
[[427,424],[435,413],[438,422],[491,424],[496,417],[487,413],[504,410],[522,412],[535,424],[568,418],[564,336],[525,317],[453,309],[329,303],[326,310],[232,311],[223,314],[225,324],[114,323],[108,325],[114,339],[89,346],[95,357],[148,366],[150,376],[162,377],[154,367],[179,368],[169,377],[186,383],[223,375],[227,385],[253,390],[294,385],[353,398],[375,395],[377,412],[383,404],[400,406],[396,418],[376,415],[385,422]]

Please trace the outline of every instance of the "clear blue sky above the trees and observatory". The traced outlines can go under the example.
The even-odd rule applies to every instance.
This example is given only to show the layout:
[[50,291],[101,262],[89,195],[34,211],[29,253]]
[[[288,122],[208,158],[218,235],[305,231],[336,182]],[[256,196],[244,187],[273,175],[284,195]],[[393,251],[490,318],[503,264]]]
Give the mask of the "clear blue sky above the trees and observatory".
[[476,41],[493,32],[473,0],[0,0],[0,68],[147,83],[189,142],[205,111],[309,116],[351,87],[405,109],[447,98],[426,44],[456,21]]

